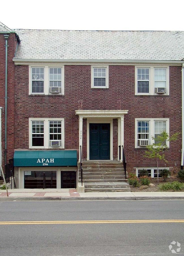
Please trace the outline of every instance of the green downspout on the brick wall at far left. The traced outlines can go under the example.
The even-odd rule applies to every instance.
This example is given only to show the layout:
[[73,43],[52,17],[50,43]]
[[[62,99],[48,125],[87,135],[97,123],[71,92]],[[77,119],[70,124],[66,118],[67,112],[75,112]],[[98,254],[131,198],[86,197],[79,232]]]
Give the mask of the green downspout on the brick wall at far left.
[[8,37],[5,37],[5,165],[7,163],[7,76],[8,76]]

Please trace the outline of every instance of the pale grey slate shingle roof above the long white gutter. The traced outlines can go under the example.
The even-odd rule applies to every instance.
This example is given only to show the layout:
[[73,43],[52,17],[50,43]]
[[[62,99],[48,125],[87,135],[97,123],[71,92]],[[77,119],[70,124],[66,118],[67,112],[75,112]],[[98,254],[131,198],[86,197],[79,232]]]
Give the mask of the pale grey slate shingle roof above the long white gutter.
[[15,59],[155,60],[184,58],[184,31],[63,31],[16,29]]

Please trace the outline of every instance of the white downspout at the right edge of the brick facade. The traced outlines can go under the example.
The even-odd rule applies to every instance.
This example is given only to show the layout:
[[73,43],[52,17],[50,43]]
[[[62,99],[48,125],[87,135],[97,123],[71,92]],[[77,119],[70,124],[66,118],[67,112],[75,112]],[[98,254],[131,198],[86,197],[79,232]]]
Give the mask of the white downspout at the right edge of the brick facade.
[[181,170],[183,170],[184,157],[184,64],[181,69],[181,123],[182,123],[182,148],[181,148]]

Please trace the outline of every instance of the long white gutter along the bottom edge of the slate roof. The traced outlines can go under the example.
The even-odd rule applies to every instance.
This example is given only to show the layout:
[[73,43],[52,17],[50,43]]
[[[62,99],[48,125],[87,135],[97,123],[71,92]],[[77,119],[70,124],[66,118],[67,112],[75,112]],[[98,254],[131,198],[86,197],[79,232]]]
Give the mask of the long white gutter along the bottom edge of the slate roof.
[[129,60],[129,59],[16,59],[13,58],[14,62],[122,62],[122,63],[176,63],[182,64],[181,61],[173,60]]

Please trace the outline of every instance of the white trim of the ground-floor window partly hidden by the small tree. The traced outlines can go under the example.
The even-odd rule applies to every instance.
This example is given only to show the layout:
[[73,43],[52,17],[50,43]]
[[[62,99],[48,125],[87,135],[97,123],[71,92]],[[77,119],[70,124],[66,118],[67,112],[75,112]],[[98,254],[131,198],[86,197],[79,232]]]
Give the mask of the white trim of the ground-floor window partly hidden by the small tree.
[[[138,146],[137,137],[137,122],[138,121],[149,121],[149,145],[154,143],[151,136],[155,137],[155,121],[166,121],[166,132],[169,134],[169,118],[136,118],[135,119],[135,148],[146,148],[146,146]],[[166,142],[169,147],[169,141]]]

